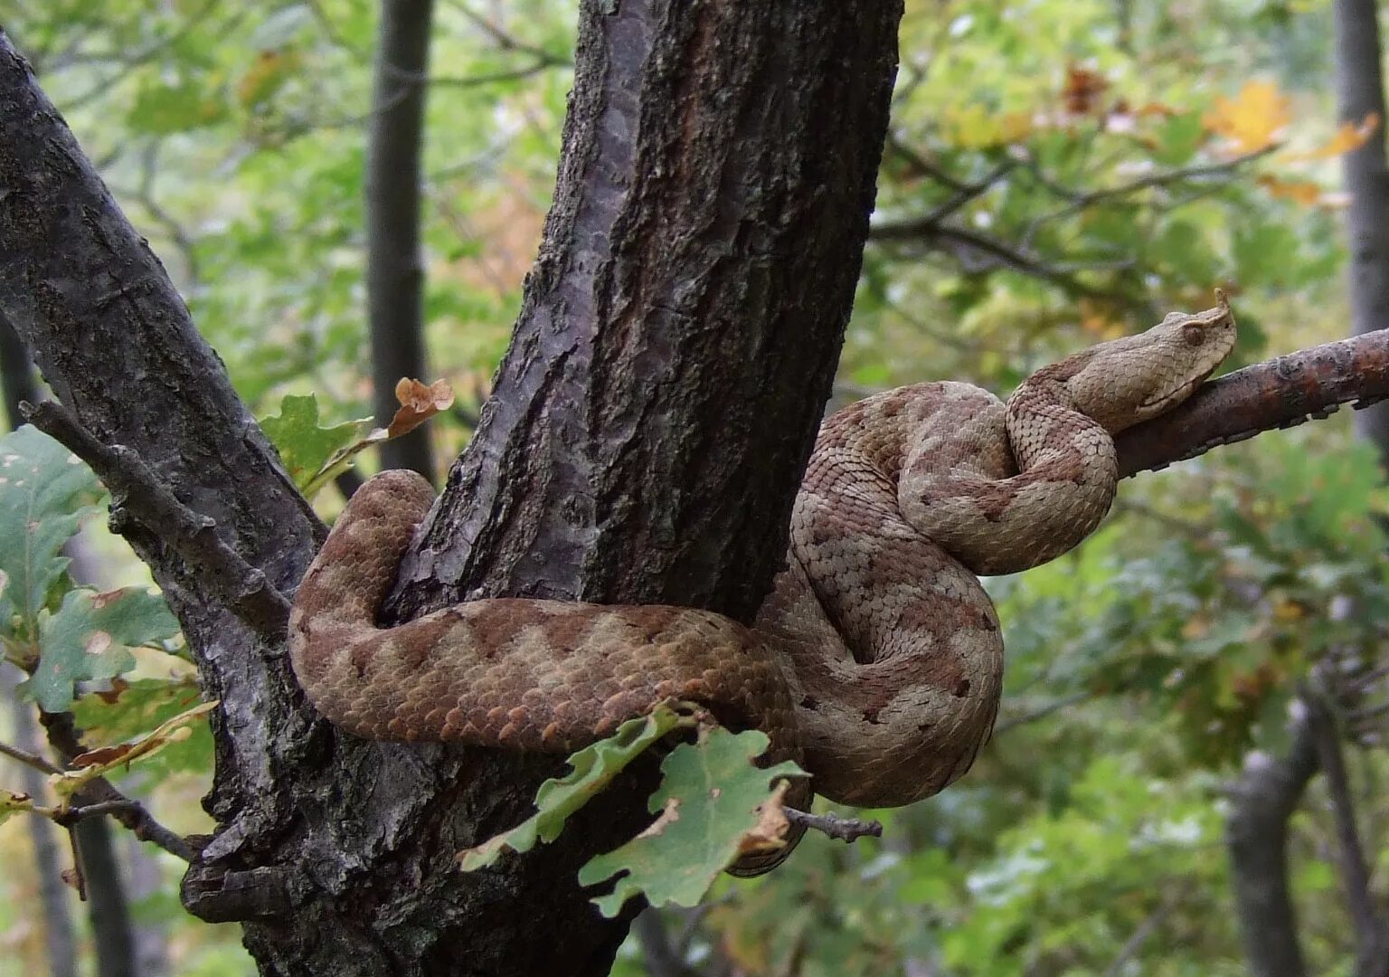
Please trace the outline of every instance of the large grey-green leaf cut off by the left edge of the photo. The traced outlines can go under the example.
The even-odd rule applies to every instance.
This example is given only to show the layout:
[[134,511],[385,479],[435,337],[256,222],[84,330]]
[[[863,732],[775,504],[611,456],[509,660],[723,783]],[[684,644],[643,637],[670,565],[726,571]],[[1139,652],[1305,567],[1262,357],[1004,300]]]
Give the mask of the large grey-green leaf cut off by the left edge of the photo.
[[36,428],[0,438],[0,634],[36,637],[39,611],[68,566],[63,546],[100,492],[92,470]]

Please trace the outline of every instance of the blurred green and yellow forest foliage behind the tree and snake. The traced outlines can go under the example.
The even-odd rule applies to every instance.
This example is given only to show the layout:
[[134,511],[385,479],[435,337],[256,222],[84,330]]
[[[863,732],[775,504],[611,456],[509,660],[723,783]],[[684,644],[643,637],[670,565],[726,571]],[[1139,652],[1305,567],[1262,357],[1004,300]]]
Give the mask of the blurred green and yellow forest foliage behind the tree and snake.
[[[1214,286],[1242,327],[1235,366],[1345,336],[1360,203],[1342,167],[1383,140],[1351,92],[1382,89],[1378,65],[1336,43],[1354,8],[910,0],[836,403],[932,378],[1006,393],[1074,349],[1214,304]],[[1350,29],[1372,39],[1375,6],[1358,8],[1371,17]],[[385,413],[368,256],[408,253],[413,228],[369,220],[364,174],[374,138],[404,153],[403,174],[414,150],[408,126],[378,131],[396,106],[372,108],[381,4],[0,13],[257,416],[304,410],[283,397],[307,393],[325,424]],[[456,402],[392,464],[442,474],[476,421],[553,189],[575,22],[574,0],[435,3],[428,83],[401,90],[428,93],[422,377]],[[371,183],[378,218],[390,176]],[[415,313],[375,309],[407,332]],[[25,368],[13,340],[3,356],[13,400]],[[378,363],[389,397],[400,372]],[[1076,552],[989,581],[1006,692],[968,777],[878,813],[882,841],[810,837],[767,878],[649,912],[614,973],[1385,973],[1385,502],[1350,411],[1126,482]],[[332,516],[340,495],[317,503]],[[74,575],[147,582],[100,520],[81,541]],[[82,698],[78,723],[97,741],[149,730],[188,705],[190,671],[144,649],[126,675],[140,695]],[[32,749],[19,677],[0,739]],[[175,830],[207,831],[210,767],[200,730],[119,784]],[[43,789],[10,763],[0,787]],[[65,832],[0,826],[0,974],[254,971],[238,927],[181,909],[178,859],[100,820],[82,831],[104,852],[88,903],[61,881]]]

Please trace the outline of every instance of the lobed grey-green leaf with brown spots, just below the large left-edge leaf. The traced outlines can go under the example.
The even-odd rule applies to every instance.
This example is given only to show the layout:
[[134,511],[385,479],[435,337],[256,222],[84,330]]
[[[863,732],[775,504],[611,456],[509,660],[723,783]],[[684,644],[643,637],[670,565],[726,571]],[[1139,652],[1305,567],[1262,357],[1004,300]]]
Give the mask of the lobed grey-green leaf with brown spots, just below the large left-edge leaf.
[[46,712],[63,712],[72,703],[74,684],[129,671],[131,648],[178,631],[164,598],[143,588],[69,591],[57,611],[40,618],[39,664],[19,688]]

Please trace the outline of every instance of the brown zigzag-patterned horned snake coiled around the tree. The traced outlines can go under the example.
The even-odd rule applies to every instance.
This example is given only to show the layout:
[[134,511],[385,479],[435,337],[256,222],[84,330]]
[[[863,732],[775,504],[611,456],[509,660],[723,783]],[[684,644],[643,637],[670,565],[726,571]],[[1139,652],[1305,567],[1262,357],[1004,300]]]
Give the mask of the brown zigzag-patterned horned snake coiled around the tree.
[[[1222,297],[1045,367],[1007,404],[938,382],[836,413],[796,498],[789,568],[751,628],[688,607],[524,599],[378,628],[433,502],[418,475],[382,473],[299,588],[294,671],[361,737],[558,753],[692,699],[763,728],[771,757],[801,759],[826,798],[911,803],[968,770],[993,728],[1003,639],[975,574],[1079,543],[1114,498],[1111,435],[1185,400],[1233,343]],[[808,799],[801,788],[793,803]]]

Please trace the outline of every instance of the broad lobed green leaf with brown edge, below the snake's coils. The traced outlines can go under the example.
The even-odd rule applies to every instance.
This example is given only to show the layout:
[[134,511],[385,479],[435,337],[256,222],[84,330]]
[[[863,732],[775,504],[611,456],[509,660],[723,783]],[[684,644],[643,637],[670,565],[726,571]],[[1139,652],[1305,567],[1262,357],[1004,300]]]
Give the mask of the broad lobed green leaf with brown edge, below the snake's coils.
[[653,906],[694,906],[754,834],[763,805],[785,787],[771,781],[804,775],[795,763],[756,767],[767,750],[757,730],[710,730],[699,744],[682,744],[661,764],[665,774],[649,810],[661,812],[651,827],[614,852],[579,869],[581,885],[596,885],[618,873],[611,895],[594,899],[599,912],[617,916],[622,903],[644,894]]

